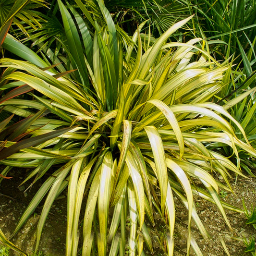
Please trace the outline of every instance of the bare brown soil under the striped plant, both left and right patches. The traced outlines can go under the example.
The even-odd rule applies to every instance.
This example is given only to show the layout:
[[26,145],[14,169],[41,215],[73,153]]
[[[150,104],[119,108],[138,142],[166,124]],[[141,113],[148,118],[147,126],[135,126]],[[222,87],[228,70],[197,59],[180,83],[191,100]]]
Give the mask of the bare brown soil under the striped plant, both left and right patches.
[[[4,179],[0,183],[0,229],[8,237],[14,231],[18,220],[21,218],[29,201],[35,195],[40,182],[36,183],[31,190],[25,191],[26,185],[19,187],[24,179],[25,171],[12,171],[8,176],[12,179]],[[220,189],[221,199],[233,206],[244,209],[243,200],[248,209],[256,207],[256,178],[235,179],[232,181],[234,194],[226,193]],[[177,200],[175,226],[175,256],[186,255],[187,244],[187,211]],[[244,253],[244,239],[249,241],[256,237],[256,230],[252,225],[246,225],[247,220],[244,213],[237,213],[226,210],[228,219],[231,223],[232,230],[225,223],[223,216],[218,207],[214,204],[201,199],[195,198],[197,213],[205,225],[210,235],[209,239],[203,239],[195,223],[192,223],[192,235],[199,245],[204,256],[246,256],[250,253]],[[36,236],[37,222],[40,216],[42,206],[37,207],[33,216],[31,216],[24,227],[12,239],[12,243],[23,249],[30,256],[33,255]],[[155,256],[162,256],[166,248],[164,243],[165,224],[158,221],[155,230],[152,229],[151,236],[154,246]],[[65,232],[66,232],[66,195],[61,195],[55,201],[49,218],[45,224],[41,237],[39,252],[37,256],[64,256],[65,255]],[[160,244],[159,244],[160,242]],[[225,248],[226,247],[226,248]],[[147,254],[148,253],[148,254]],[[191,255],[195,255],[191,249]],[[10,256],[16,256],[15,252],[10,250]],[[146,251],[146,255],[152,255]]]

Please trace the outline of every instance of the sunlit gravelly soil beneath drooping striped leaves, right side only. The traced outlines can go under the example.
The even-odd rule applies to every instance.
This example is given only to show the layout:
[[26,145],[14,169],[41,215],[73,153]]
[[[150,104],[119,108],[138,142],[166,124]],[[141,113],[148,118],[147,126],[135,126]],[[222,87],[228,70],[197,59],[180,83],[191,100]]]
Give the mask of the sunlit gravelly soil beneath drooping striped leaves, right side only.
[[[256,179],[238,180],[232,184],[234,193],[226,193],[220,189],[220,199],[232,206],[244,210],[243,201],[248,210],[256,207]],[[238,213],[226,209],[226,214],[232,230],[226,224],[219,208],[206,200],[197,199],[197,213],[207,229],[210,237],[208,240],[203,239],[197,227],[192,223],[192,235],[196,243],[199,245],[204,256],[246,256],[251,253],[245,253],[244,240],[248,242],[251,238],[256,237],[256,229],[252,225],[247,225],[244,213]],[[181,210],[178,214],[179,218],[184,219],[185,211]],[[186,218],[185,218],[186,219]],[[175,256],[186,255],[186,225],[184,221],[177,223],[177,250]],[[226,250],[225,250],[226,247]],[[191,250],[191,255],[195,255]]]

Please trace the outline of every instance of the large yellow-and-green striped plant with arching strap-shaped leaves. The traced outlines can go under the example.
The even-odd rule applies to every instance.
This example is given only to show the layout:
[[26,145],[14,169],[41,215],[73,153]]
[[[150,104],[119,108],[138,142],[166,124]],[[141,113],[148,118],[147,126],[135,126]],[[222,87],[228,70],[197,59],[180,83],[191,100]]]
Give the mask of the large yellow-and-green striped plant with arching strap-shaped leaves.
[[[50,167],[61,164],[38,190],[13,235],[47,195],[37,228],[38,248],[49,209],[68,187],[66,255],[76,255],[79,241],[83,255],[90,255],[92,248],[99,255],[124,255],[127,243],[130,255],[143,255],[143,240],[153,251],[145,214],[154,224],[155,211],[167,220],[166,244],[172,255],[176,195],[188,209],[187,251],[191,244],[198,253],[191,236],[191,219],[205,237],[207,232],[196,214],[193,194],[215,202],[231,228],[224,207],[235,208],[221,203],[220,184],[211,173],[222,175],[226,184],[221,186],[230,191],[229,171],[241,174],[239,163],[234,165],[207,145],[228,145],[237,157],[240,146],[256,156],[240,124],[224,108],[207,103],[223,86],[221,79],[228,67],[214,61],[200,47],[200,38],[167,43],[191,17],[171,26],[154,43],[141,40],[139,27],[123,47],[102,1],[98,1],[103,18],[99,24],[76,0],[93,33],[71,6],[68,10],[61,0],[58,3],[66,32],[67,45],[63,46],[72,69],[77,70],[72,74],[76,83],[58,78],[53,69],[45,72],[24,61],[1,60],[2,65],[17,69],[6,80],[18,80],[39,92],[33,95],[34,108],[47,108],[58,116],[38,119],[30,127],[32,134],[63,126],[72,128],[1,160],[2,164],[35,167],[25,180],[36,177],[34,182]],[[17,44],[11,37],[7,40],[9,45]],[[12,112],[8,100],[2,104]],[[31,101],[20,100],[17,108],[29,116]],[[245,142],[236,137],[227,119],[244,135]],[[190,182],[193,179],[198,179],[208,192],[195,187]],[[84,220],[79,240],[81,215]]]

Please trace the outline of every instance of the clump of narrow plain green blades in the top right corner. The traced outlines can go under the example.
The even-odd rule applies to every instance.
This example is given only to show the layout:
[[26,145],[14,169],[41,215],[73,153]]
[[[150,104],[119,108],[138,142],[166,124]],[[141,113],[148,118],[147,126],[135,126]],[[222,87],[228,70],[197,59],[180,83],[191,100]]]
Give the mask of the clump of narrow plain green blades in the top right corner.
[[252,74],[256,61],[256,1],[200,0],[197,3],[193,10],[198,16],[197,31],[208,39],[218,39],[219,44],[212,45],[215,54],[226,58],[234,54],[236,63],[243,61],[243,72],[247,76]]

